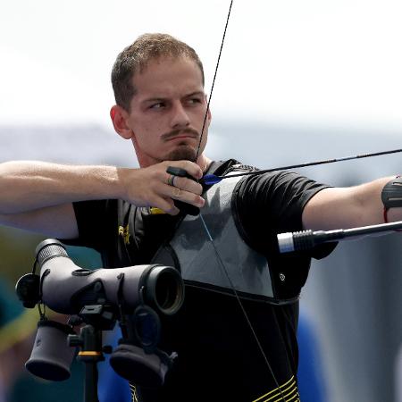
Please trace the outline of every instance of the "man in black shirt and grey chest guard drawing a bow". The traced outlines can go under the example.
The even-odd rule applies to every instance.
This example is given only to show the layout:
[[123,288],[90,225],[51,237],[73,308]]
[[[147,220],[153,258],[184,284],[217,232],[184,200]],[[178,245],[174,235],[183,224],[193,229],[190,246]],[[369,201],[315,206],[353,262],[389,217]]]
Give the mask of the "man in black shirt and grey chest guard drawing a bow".
[[[180,269],[185,302],[161,317],[160,342],[178,358],[161,388],[133,387],[134,398],[298,400],[297,297],[311,257],[333,246],[281,255],[276,234],[401,220],[401,207],[384,214],[381,201],[392,178],[331,188],[277,172],[203,188],[205,172],[247,167],[204,154],[211,113],[195,51],[168,35],[144,35],[119,54],[112,81],[113,127],[133,142],[140,169],[3,163],[0,222],[94,247],[107,267]],[[166,172],[170,166],[194,180]],[[201,214],[180,214],[177,200]]]

